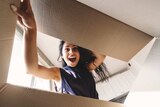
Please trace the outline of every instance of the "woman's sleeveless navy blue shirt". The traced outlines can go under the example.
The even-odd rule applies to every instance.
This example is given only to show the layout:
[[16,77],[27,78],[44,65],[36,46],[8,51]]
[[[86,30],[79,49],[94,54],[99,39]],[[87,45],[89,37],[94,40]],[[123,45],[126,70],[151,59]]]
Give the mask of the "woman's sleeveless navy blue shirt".
[[98,99],[94,78],[88,70],[66,66],[60,72],[62,93]]

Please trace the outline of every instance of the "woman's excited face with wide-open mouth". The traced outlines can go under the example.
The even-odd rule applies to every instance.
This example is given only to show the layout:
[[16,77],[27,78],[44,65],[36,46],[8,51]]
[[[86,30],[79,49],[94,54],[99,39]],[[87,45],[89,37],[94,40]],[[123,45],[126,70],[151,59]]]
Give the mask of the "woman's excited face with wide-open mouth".
[[77,66],[80,59],[78,47],[71,43],[65,42],[62,48],[62,58],[68,66]]

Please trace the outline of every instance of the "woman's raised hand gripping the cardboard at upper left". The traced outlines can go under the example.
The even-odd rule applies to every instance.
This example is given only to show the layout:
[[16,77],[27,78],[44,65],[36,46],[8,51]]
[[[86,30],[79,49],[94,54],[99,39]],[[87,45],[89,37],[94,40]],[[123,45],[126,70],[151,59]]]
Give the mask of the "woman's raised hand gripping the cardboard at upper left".
[[15,4],[10,4],[10,8],[13,13],[18,16],[18,22],[20,25],[25,29],[36,30],[36,22],[30,0],[23,0],[23,2],[20,3],[20,7],[17,7]]

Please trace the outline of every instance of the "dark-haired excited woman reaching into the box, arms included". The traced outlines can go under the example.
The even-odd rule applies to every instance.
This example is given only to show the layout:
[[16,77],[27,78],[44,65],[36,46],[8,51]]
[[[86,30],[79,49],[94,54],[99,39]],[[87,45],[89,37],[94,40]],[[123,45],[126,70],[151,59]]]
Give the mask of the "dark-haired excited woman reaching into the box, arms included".
[[11,4],[10,7],[18,16],[18,21],[24,28],[26,71],[44,79],[53,79],[58,82],[62,80],[62,93],[98,98],[95,81],[90,71],[99,66],[105,56],[62,41],[60,57],[64,67],[46,68],[39,65],[36,46],[37,27],[30,1],[23,0],[20,8],[14,4]]

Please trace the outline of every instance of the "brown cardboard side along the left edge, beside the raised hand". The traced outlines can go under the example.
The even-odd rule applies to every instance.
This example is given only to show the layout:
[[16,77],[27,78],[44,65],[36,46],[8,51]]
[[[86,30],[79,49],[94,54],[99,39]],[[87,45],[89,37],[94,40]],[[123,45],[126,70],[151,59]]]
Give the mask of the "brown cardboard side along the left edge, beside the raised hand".
[[16,16],[11,12],[9,4],[19,4],[20,0],[0,0],[0,87],[6,82],[13,37],[16,26]]

